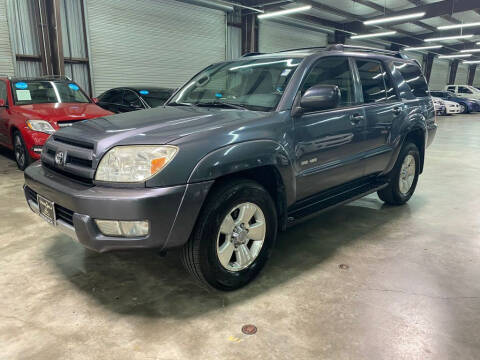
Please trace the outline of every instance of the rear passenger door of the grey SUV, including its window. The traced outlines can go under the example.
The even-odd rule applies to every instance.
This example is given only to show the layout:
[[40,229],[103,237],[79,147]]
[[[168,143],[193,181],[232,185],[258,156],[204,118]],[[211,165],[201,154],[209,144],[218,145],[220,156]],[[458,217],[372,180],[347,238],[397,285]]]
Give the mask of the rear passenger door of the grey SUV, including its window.
[[405,118],[405,107],[392,78],[378,60],[355,59],[366,116],[365,175],[383,171],[392,156],[392,127]]

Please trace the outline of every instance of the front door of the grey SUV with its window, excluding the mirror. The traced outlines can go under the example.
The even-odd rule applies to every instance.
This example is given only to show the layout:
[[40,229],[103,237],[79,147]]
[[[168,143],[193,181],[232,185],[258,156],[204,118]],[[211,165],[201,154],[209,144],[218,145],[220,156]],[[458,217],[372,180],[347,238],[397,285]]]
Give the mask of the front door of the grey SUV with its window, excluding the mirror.
[[297,200],[363,175],[365,112],[357,105],[349,59],[320,59],[307,75],[301,93],[320,84],[337,85],[341,101],[338,108],[295,119]]

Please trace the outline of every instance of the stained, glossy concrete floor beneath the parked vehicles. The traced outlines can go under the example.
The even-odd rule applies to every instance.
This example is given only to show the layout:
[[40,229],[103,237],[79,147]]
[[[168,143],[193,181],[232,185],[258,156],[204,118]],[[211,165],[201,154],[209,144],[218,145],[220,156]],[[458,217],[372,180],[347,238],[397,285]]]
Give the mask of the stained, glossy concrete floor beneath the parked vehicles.
[[218,293],[174,253],[58,234],[1,151],[0,359],[478,359],[479,160],[480,115],[440,118],[408,205],[372,195],[297,225],[254,283]]

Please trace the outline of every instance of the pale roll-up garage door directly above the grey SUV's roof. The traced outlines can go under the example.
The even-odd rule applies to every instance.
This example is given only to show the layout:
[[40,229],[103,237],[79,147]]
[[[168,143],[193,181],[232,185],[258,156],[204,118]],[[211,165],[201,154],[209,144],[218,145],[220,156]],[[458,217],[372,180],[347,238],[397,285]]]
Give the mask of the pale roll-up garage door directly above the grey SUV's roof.
[[261,21],[259,25],[258,47],[261,52],[325,46],[326,44],[327,34],[319,31],[274,21]]

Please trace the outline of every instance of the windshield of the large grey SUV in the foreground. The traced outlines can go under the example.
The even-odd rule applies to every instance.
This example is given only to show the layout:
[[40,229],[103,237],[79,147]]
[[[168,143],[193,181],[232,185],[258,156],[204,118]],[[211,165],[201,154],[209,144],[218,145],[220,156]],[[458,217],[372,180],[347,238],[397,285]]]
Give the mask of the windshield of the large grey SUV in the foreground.
[[168,105],[271,111],[302,59],[264,58],[209,66],[185,84]]

